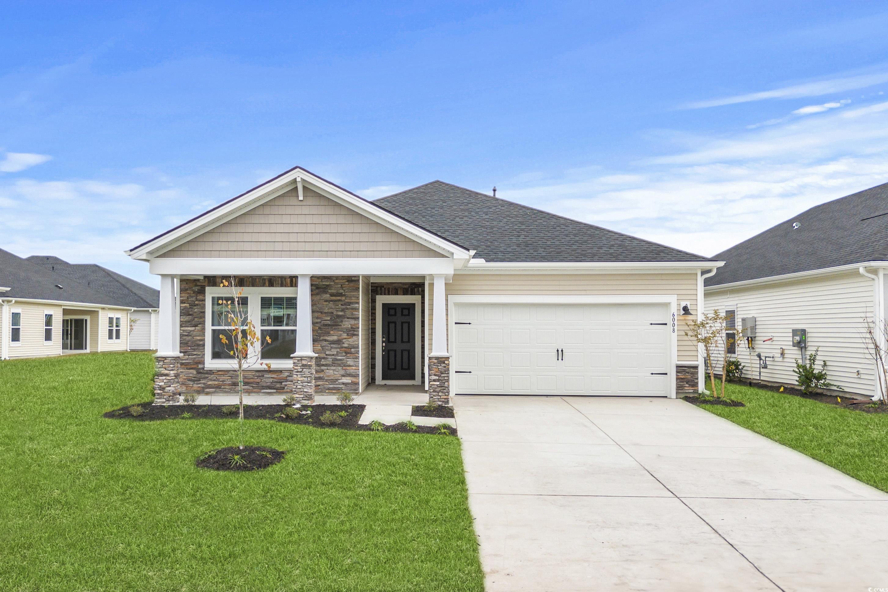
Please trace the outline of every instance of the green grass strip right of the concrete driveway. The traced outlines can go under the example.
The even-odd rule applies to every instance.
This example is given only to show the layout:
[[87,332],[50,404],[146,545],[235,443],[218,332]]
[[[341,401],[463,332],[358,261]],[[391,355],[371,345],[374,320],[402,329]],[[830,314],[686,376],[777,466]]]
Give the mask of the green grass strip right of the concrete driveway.
[[735,383],[725,385],[725,396],[746,407],[703,408],[888,492],[888,414]]

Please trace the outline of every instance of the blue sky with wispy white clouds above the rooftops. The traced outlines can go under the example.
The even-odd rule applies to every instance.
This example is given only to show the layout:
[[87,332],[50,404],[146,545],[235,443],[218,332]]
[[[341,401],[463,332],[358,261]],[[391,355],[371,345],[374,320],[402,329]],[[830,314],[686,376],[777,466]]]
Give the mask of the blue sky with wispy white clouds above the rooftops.
[[8,3],[0,248],[107,265],[299,164],[703,255],[888,181],[884,3]]

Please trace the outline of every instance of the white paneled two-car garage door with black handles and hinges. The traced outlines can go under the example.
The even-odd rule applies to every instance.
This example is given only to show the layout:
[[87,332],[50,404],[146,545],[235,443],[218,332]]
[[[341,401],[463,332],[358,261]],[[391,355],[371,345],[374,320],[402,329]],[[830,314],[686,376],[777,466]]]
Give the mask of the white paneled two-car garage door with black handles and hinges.
[[670,394],[667,304],[454,305],[456,394]]

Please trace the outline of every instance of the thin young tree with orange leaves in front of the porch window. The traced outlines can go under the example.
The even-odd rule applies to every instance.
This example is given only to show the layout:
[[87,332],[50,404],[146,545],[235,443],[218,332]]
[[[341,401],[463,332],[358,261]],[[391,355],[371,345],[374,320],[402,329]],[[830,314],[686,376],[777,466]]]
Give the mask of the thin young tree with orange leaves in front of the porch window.
[[[213,315],[217,316],[216,320],[219,325],[226,328],[219,334],[219,342],[225,347],[228,355],[230,355],[237,363],[237,394],[240,407],[240,427],[241,442],[239,447],[243,450],[243,369],[250,367],[258,362],[259,354],[262,351],[262,340],[256,331],[256,326],[250,320],[250,314],[247,311],[246,303],[243,302],[243,288],[238,288],[234,276],[231,280],[222,280],[219,288],[228,288],[229,295],[219,296],[216,299],[216,310]],[[272,343],[271,337],[266,336],[266,343]],[[262,366],[269,370],[272,365],[263,363]]]

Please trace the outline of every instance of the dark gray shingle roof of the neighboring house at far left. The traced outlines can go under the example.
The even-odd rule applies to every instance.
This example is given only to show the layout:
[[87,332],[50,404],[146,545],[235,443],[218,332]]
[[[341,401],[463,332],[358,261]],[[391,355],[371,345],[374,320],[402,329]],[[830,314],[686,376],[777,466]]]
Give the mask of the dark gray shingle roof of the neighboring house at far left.
[[[124,295],[120,288],[108,289],[110,280],[94,280],[93,275],[98,277],[100,274],[94,270],[78,271],[78,268],[82,267],[96,267],[113,274],[115,278],[123,278],[131,284],[138,284],[142,287],[138,288],[141,294],[133,289],[136,287],[128,288],[128,296]],[[61,271],[63,269],[64,272]],[[117,281],[120,282],[119,279]],[[123,285],[123,282],[120,285]],[[59,257],[37,256],[23,259],[4,249],[0,249],[0,286],[10,288],[0,294],[4,298],[157,308],[157,305],[151,304],[151,300],[146,297],[149,296],[146,290],[153,290],[155,293],[157,290],[99,265],[68,264]],[[158,299],[159,296],[155,296],[155,301]]]

